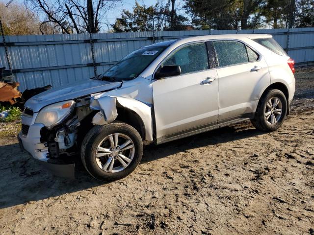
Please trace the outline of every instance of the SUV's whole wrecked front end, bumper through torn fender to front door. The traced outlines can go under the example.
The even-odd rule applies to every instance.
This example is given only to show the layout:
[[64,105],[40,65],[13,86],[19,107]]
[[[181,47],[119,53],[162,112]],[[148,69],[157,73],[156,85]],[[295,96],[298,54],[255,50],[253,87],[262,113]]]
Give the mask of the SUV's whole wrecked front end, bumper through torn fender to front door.
[[152,106],[116,91],[58,100],[44,107],[43,99],[31,98],[22,115],[22,148],[54,175],[74,178],[81,144],[94,125],[122,121],[138,131],[144,144],[153,142]]

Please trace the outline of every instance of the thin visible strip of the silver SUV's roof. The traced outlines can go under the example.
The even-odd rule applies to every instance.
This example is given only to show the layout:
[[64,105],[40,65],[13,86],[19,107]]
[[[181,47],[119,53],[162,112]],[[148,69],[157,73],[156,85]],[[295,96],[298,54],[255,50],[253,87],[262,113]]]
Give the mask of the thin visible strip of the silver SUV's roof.
[[200,41],[200,40],[210,40],[210,39],[258,39],[258,38],[272,38],[270,34],[217,34],[217,35],[203,35],[203,36],[192,36],[192,37],[184,37],[181,39],[175,39],[175,40],[169,40],[164,41],[160,43],[155,43],[153,45],[149,45],[146,47],[152,47],[152,46],[169,46],[175,42],[180,41]]

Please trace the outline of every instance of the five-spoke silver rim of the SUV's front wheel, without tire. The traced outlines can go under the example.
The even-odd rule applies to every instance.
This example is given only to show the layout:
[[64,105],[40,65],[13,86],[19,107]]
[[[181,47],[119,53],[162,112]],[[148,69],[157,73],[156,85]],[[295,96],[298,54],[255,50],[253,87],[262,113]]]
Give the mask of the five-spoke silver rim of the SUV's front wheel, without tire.
[[135,147],[131,138],[121,133],[106,136],[96,151],[98,166],[110,173],[124,170],[134,157]]

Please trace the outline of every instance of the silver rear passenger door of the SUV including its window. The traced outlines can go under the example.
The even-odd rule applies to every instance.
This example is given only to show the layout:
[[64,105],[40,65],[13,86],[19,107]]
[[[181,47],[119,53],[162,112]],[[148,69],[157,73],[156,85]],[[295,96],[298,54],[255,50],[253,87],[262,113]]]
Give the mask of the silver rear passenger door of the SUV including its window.
[[259,101],[256,89],[267,87],[270,83],[264,58],[240,41],[217,40],[211,41],[211,44],[218,62],[218,122],[250,117]]

